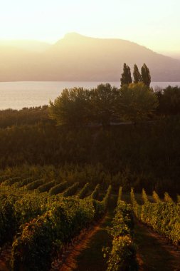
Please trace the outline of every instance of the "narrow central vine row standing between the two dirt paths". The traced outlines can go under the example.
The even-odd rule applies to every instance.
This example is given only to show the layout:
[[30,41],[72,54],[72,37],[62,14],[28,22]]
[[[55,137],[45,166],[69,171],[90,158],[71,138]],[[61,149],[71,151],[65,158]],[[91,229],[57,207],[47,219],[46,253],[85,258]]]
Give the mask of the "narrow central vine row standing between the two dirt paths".
[[112,250],[103,248],[104,257],[108,257],[107,271],[138,270],[136,247],[133,241],[132,206],[121,200],[119,190],[115,218],[109,232],[112,235]]

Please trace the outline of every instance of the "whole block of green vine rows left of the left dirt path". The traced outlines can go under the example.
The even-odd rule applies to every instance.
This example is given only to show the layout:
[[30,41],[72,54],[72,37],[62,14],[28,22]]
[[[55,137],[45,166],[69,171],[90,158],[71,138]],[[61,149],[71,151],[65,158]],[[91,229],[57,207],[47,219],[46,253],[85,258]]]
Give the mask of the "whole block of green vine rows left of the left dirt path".
[[111,186],[98,201],[97,197],[85,198],[88,183],[79,188],[78,182],[64,182],[66,190],[62,193],[46,192],[49,187],[57,190],[57,183],[29,176],[1,178],[0,245],[14,239],[11,270],[49,270],[63,247],[105,213]]

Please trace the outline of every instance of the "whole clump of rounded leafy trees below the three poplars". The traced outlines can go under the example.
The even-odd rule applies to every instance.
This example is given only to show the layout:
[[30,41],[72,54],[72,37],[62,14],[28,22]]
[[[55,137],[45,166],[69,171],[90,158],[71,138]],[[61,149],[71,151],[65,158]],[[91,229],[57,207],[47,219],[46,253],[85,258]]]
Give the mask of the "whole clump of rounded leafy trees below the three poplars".
[[112,121],[147,118],[157,105],[157,96],[142,82],[125,84],[120,89],[106,83],[91,90],[65,89],[54,103],[50,101],[49,112],[58,125],[108,126]]

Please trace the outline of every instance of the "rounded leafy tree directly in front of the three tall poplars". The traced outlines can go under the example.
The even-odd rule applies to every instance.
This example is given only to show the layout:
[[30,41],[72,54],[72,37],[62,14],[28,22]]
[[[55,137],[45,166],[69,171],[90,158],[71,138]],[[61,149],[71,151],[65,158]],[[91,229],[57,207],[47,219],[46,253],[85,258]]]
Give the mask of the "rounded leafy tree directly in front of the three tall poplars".
[[158,106],[157,96],[152,88],[144,83],[131,83],[120,89],[120,115],[126,121],[137,121],[149,118]]

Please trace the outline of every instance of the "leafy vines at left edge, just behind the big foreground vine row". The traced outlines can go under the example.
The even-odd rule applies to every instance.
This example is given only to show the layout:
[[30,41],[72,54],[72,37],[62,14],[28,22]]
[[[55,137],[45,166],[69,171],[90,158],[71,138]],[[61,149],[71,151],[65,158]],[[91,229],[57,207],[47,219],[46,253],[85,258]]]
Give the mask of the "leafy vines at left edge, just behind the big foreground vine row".
[[4,183],[0,193],[0,246],[13,240],[18,227],[41,215],[48,208],[48,198]]

